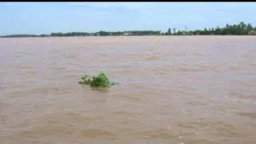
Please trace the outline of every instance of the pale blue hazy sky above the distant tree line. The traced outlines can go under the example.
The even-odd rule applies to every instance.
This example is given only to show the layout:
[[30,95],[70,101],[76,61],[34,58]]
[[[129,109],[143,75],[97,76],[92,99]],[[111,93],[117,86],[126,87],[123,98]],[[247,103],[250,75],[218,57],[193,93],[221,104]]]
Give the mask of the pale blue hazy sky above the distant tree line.
[[0,35],[256,26],[254,14],[256,2],[0,2]]

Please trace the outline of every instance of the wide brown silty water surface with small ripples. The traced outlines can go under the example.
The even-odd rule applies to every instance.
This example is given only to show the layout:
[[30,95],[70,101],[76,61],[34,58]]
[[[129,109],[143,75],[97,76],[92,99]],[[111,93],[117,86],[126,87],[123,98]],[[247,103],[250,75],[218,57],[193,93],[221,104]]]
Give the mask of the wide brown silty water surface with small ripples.
[[3,144],[256,143],[254,36],[1,38],[0,68]]

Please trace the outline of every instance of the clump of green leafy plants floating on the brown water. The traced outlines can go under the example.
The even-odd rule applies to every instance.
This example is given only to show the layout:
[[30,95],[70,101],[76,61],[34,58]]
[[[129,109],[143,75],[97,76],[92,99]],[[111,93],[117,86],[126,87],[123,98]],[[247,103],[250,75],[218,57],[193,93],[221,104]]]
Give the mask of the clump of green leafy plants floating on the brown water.
[[111,85],[117,84],[116,82],[110,82],[106,74],[100,72],[97,76],[90,77],[88,75],[82,77],[82,81],[79,84],[86,84],[92,87],[110,87]]

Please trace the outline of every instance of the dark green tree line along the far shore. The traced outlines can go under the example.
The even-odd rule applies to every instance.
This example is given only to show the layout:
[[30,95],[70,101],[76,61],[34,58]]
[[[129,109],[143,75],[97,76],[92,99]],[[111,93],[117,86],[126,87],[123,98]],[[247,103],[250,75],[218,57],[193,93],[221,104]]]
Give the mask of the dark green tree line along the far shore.
[[239,22],[238,24],[230,25],[220,28],[205,28],[204,30],[177,30],[176,28],[169,28],[166,32],[160,30],[130,30],[130,31],[99,31],[96,33],[86,32],[70,32],[70,33],[51,33],[51,34],[12,34],[5,35],[1,38],[26,38],[26,37],[74,37],[74,36],[140,36],[140,35],[256,35],[256,26],[250,23]]

